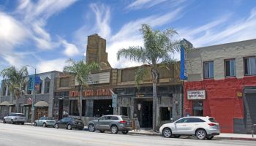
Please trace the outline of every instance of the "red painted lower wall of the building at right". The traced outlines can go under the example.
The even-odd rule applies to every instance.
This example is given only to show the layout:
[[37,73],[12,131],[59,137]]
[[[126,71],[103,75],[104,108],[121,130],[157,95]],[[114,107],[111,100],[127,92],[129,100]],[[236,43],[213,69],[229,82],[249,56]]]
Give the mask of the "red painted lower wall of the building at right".
[[256,86],[256,76],[184,82],[184,112],[192,113],[192,100],[187,100],[188,90],[206,90],[203,100],[203,115],[216,118],[220,130],[233,133],[233,118],[244,118],[244,101],[236,93],[243,93],[244,86]]

